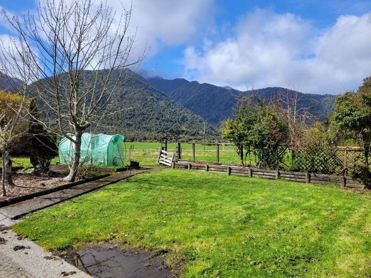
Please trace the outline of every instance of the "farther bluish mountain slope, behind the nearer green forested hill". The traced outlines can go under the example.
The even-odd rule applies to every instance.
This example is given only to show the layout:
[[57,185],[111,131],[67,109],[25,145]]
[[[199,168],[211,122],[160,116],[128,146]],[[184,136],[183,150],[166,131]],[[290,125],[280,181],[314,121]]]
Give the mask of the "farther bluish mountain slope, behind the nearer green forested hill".
[[[148,81],[155,89],[167,94],[215,126],[232,116],[236,95],[251,93],[251,91],[241,92],[230,87],[200,84],[197,81],[189,82],[185,79],[166,80],[156,77],[149,78]],[[254,92],[268,99],[276,98],[280,90],[286,89],[274,87],[258,89]],[[321,120],[334,110],[335,95],[301,93],[301,97],[301,105],[313,107],[312,113]]]

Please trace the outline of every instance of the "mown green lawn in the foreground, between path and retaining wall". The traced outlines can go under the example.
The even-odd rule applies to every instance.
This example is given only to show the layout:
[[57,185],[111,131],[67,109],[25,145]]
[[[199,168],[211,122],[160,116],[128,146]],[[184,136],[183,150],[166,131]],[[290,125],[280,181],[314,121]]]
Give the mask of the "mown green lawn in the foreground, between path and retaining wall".
[[182,277],[369,277],[370,193],[185,170],[141,174],[13,229],[47,249],[171,250]]

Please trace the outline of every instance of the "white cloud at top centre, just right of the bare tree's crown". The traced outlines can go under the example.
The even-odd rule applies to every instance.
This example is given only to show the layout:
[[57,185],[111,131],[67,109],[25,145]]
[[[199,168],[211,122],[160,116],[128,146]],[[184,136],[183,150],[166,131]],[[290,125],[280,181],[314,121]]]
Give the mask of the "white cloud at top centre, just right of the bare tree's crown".
[[[37,3],[39,0],[35,0]],[[72,3],[75,0],[64,0]],[[211,23],[214,13],[214,0],[106,0],[117,18],[133,2],[134,11],[130,21],[133,34],[137,28],[136,53],[150,46],[149,56],[156,54],[163,46],[175,46],[190,42],[201,36],[200,25]],[[98,6],[100,0],[95,1]],[[116,22],[118,23],[118,22]]]

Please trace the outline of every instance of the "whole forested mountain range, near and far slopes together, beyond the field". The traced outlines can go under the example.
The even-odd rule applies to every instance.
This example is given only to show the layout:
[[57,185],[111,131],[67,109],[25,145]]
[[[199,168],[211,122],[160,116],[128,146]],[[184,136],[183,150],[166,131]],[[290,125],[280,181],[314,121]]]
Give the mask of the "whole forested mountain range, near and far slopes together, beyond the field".
[[[122,108],[130,109],[107,119],[105,125],[111,128],[101,131],[120,133],[128,140],[158,140],[169,133],[201,138],[204,122],[211,124],[207,125],[207,137],[217,136],[217,127],[232,117],[235,97],[252,93],[185,79],[155,77],[146,80],[130,70],[126,70],[125,79],[116,88],[115,101],[122,102]],[[20,81],[0,74],[0,88],[3,90],[11,90],[16,84],[19,85]],[[286,89],[275,87],[254,92],[269,99],[276,98],[282,90]],[[312,113],[319,119],[326,118],[334,109],[335,95],[300,93],[300,96],[301,105],[312,106]]]

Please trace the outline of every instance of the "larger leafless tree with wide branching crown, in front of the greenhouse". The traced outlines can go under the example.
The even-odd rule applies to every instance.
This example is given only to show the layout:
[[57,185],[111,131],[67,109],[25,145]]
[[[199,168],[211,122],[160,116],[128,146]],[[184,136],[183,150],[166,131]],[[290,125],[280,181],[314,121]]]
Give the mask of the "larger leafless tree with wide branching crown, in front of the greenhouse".
[[37,99],[42,124],[74,144],[67,181],[76,177],[83,133],[124,110],[120,86],[128,78],[125,68],[138,66],[147,50],[131,57],[136,42],[136,31],[129,28],[133,5],[121,5],[121,15],[106,2],[93,0],[44,0],[35,15],[29,12],[23,18],[2,11],[20,41],[14,43],[20,47],[17,53],[5,54],[25,69],[21,76],[31,77],[27,95]]

